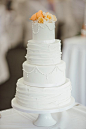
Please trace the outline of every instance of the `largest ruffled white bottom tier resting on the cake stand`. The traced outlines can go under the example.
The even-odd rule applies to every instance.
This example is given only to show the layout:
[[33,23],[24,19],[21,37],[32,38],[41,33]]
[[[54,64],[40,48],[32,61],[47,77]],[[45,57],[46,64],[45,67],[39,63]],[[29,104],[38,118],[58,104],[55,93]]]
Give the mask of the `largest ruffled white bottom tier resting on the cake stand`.
[[19,79],[16,88],[16,101],[23,107],[32,109],[52,109],[68,104],[71,100],[71,83],[56,87],[32,87],[23,84],[23,78]]

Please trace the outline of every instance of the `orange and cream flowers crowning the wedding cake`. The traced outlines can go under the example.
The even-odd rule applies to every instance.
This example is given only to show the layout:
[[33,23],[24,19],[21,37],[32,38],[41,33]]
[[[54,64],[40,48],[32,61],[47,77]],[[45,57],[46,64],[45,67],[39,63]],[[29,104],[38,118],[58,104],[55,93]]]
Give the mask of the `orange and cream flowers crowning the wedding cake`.
[[44,22],[52,23],[57,21],[57,18],[55,15],[52,15],[49,12],[45,13],[42,10],[39,10],[37,13],[31,16],[30,20],[37,21],[38,23],[44,23]]

